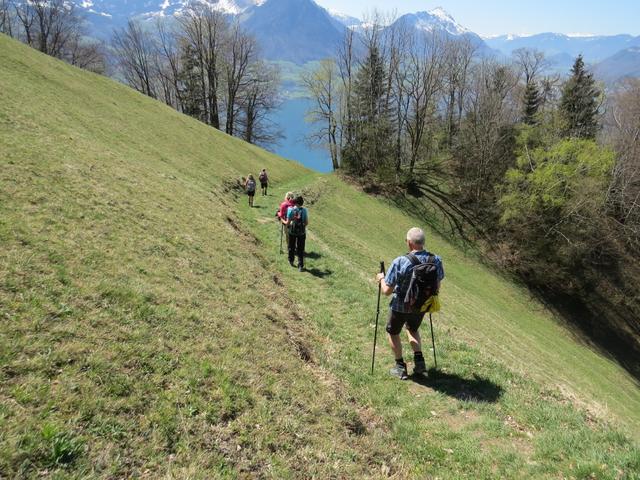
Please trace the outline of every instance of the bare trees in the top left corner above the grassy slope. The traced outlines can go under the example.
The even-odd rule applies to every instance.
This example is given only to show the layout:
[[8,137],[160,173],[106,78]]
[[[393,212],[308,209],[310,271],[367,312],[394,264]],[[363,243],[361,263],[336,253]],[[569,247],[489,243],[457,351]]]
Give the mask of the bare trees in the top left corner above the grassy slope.
[[0,0],[0,33],[46,55],[105,73],[105,52],[87,39],[82,15],[65,0]]

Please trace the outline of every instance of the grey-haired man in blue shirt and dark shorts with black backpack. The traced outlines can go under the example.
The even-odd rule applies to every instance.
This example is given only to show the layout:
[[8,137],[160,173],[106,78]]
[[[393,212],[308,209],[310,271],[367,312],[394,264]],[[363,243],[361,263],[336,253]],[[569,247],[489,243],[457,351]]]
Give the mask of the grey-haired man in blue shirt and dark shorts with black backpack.
[[[386,330],[389,334],[389,343],[395,355],[396,364],[389,373],[401,380],[408,378],[407,364],[402,358],[402,341],[400,340],[400,332],[404,325],[407,326],[407,336],[413,349],[413,373],[421,375],[427,371],[418,329],[425,313],[437,301],[436,295],[440,282],[444,278],[440,257],[424,249],[425,235],[422,229],[412,228],[409,230],[406,241],[409,253],[396,258],[386,276],[383,273],[376,276],[382,293],[385,295],[393,294],[389,304],[389,320]],[[421,267],[421,264],[424,267]],[[418,267],[416,275],[413,275],[414,268]]]

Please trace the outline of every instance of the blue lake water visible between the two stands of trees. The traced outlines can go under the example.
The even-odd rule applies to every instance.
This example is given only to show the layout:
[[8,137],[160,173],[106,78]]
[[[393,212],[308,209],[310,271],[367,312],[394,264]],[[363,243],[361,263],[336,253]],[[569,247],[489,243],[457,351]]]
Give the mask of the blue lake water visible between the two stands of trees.
[[288,99],[282,104],[273,119],[282,128],[285,138],[274,152],[317,172],[327,173],[332,171],[328,152],[305,143],[305,136],[311,131],[311,125],[304,121],[308,108],[309,100],[305,98]]

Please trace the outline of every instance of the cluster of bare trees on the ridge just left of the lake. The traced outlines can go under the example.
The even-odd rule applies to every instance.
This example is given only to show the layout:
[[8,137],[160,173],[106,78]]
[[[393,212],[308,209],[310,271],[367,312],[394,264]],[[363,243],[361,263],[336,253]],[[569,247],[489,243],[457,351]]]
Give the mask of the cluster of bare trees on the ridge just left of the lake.
[[194,2],[175,22],[129,20],[113,35],[116,71],[131,87],[247,142],[280,137],[270,113],[279,72],[237,20]]

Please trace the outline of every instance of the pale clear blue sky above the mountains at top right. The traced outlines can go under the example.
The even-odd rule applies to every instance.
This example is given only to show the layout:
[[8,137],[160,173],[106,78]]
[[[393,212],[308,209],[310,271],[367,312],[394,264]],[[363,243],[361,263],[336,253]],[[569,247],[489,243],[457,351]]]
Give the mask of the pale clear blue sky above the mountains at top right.
[[593,33],[640,35],[640,0],[316,0],[362,17],[377,8],[398,14],[442,7],[480,35]]

